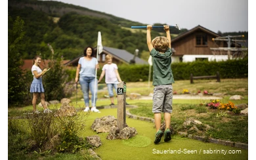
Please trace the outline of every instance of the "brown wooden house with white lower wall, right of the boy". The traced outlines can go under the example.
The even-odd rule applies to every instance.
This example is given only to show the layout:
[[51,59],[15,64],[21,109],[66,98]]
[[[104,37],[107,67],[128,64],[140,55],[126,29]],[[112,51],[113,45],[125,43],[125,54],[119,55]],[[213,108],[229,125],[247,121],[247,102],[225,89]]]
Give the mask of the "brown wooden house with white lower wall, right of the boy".
[[173,62],[227,60],[232,58],[232,55],[238,55],[238,52],[243,51],[242,46],[234,40],[234,36],[221,36],[200,25],[178,35],[171,41]]

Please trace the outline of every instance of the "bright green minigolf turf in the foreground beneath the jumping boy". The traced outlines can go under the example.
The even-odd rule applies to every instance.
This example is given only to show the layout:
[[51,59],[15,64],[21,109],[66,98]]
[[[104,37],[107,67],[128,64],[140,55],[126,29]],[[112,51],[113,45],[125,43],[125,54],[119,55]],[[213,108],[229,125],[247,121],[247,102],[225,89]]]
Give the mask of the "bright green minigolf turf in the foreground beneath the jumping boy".
[[[129,110],[129,108],[127,108]],[[190,138],[182,138],[179,135],[172,136],[170,142],[154,144],[156,129],[154,123],[140,121],[137,119],[126,118],[129,127],[137,130],[137,135],[130,140],[107,140],[108,133],[96,133],[91,130],[91,125],[96,118],[107,115],[117,117],[117,109],[102,109],[101,113],[90,113],[86,120],[87,126],[81,136],[100,136],[102,146],[95,149],[95,152],[103,160],[108,159],[248,159],[248,151],[221,144],[205,143]],[[234,151],[241,153],[217,153],[216,151]],[[163,153],[166,151],[166,153]],[[176,153],[175,153],[176,151]],[[181,152],[179,152],[181,151]],[[190,151],[190,152],[188,152]],[[192,153],[193,151],[193,153]],[[171,153],[170,153],[171,152]],[[173,152],[173,153],[172,153]]]

